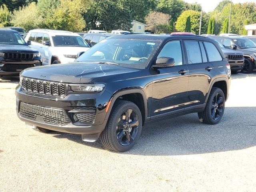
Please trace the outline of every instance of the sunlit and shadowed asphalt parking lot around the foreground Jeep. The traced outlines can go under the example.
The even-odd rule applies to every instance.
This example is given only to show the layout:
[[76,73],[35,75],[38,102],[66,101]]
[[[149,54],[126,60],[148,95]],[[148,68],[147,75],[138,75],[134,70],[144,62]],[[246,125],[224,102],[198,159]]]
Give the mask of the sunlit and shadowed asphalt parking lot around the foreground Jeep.
[[19,79],[0,79],[0,191],[256,191],[256,72],[232,76],[218,125],[197,114],[144,126],[132,150],[43,134],[16,116]]

